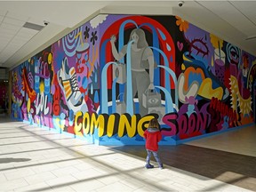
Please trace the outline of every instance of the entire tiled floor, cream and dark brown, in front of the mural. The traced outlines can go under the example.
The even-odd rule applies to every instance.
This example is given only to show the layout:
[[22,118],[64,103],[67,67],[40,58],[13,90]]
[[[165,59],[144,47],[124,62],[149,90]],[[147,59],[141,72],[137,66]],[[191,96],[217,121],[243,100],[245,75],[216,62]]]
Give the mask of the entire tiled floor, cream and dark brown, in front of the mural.
[[256,191],[255,136],[251,126],[161,146],[164,170],[147,170],[143,146],[95,146],[0,116],[0,191]]

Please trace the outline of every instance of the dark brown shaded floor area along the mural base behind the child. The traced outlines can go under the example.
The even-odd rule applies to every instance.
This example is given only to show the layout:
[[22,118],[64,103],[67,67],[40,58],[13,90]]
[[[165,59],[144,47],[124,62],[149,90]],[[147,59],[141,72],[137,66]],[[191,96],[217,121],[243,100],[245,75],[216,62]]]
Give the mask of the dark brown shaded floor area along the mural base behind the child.
[[[112,149],[145,159],[147,156],[144,146],[121,146]],[[255,156],[184,144],[160,146],[159,156],[165,165],[256,191]],[[152,160],[155,161],[154,157]]]

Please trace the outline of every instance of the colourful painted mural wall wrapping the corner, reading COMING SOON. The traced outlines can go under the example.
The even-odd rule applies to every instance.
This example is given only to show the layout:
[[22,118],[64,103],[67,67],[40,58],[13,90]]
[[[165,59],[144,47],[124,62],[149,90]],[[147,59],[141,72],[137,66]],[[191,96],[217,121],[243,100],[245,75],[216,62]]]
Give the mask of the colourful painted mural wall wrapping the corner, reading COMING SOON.
[[[256,58],[175,16],[100,14],[12,70],[12,117],[102,145],[253,122]],[[255,107],[254,107],[255,108]]]

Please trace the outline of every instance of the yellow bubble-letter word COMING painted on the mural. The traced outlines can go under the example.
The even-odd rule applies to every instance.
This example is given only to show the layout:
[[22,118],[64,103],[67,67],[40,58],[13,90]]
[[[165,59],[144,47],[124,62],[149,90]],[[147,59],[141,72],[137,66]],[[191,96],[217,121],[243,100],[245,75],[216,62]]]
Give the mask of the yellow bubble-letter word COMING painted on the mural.
[[[147,129],[148,122],[154,116],[148,115],[140,117],[140,115],[130,116],[129,114],[107,114],[97,115],[96,113],[82,113],[78,111],[75,116],[74,131],[76,135],[83,136],[93,134],[95,129],[98,129],[99,137],[108,135],[112,137],[117,133],[118,137],[123,137],[125,134],[132,138],[137,133],[143,136],[144,131]],[[117,129],[118,127],[118,129]]]

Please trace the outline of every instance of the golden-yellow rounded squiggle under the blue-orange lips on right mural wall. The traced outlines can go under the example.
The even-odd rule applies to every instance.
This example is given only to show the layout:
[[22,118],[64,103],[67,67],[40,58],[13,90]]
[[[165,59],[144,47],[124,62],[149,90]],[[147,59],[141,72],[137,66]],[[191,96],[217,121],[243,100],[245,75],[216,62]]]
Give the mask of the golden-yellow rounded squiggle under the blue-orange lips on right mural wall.
[[212,97],[218,98],[219,100],[221,100],[223,97],[223,90],[221,87],[212,89],[212,79],[205,78],[199,88],[198,94],[209,100],[211,100]]

